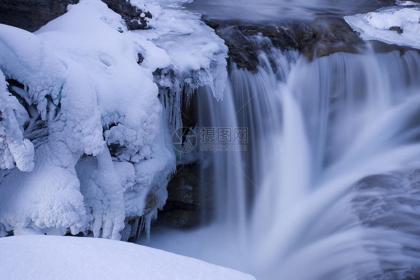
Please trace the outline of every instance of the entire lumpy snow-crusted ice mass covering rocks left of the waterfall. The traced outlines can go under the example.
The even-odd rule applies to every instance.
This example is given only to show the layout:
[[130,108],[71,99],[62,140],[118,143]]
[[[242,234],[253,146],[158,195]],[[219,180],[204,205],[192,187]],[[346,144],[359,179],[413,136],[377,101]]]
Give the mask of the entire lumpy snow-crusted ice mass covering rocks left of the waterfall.
[[127,31],[100,0],[34,33],[0,24],[0,236],[127,239],[129,219],[148,229],[165,204],[182,89],[221,99],[227,48],[182,1],[132,3],[149,29]]

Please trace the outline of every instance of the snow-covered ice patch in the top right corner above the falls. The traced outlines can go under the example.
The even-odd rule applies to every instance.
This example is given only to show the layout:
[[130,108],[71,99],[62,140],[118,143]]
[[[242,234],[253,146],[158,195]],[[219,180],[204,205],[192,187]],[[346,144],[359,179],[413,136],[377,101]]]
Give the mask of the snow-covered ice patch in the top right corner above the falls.
[[[397,4],[414,5],[409,1],[400,1]],[[420,9],[417,7],[383,8],[367,14],[346,16],[344,20],[360,33],[363,40],[379,40],[388,44],[420,48]],[[390,30],[391,27],[400,27],[403,32],[399,34]]]

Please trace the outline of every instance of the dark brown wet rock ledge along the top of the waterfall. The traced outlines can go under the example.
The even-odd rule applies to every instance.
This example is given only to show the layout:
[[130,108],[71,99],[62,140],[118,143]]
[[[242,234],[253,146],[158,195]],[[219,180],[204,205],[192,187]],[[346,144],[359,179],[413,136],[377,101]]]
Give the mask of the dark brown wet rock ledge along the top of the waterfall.
[[[336,52],[360,53],[367,43],[344,21],[342,16],[323,15],[315,20],[285,20],[276,23],[246,23],[238,20],[214,20],[202,17],[229,47],[229,60],[238,68],[257,72],[258,55],[261,51],[270,54],[270,48],[298,50],[309,60]],[[399,33],[399,27],[391,27]],[[259,40],[261,35],[269,41]],[[261,37],[260,37],[261,38]],[[387,45],[370,41],[378,52],[399,50],[402,53],[412,48]]]

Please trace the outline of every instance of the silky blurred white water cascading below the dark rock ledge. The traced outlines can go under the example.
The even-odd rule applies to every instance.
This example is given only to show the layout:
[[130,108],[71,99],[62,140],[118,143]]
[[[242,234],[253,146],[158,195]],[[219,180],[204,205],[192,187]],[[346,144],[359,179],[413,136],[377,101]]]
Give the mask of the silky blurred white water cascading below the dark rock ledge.
[[198,93],[201,125],[249,129],[247,151],[214,153],[204,176],[213,222],[152,228],[149,245],[257,279],[415,276],[420,55],[270,56],[277,74],[261,54],[257,74],[231,65],[222,102]]

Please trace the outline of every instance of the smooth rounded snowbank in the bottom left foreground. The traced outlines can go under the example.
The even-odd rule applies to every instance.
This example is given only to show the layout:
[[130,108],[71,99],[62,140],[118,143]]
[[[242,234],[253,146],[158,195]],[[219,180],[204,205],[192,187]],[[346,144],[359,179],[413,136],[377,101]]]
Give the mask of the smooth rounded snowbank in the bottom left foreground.
[[201,260],[116,240],[13,236],[0,239],[0,275],[15,280],[254,280]]

